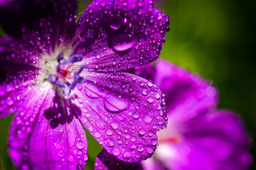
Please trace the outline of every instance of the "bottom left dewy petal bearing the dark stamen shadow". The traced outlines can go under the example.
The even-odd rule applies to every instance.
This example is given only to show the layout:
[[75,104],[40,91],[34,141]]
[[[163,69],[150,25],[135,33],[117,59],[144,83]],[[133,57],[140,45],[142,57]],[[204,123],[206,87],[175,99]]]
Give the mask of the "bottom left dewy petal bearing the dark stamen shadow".
[[79,108],[45,84],[13,118],[10,156],[17,169],[83,169],[87,145]]

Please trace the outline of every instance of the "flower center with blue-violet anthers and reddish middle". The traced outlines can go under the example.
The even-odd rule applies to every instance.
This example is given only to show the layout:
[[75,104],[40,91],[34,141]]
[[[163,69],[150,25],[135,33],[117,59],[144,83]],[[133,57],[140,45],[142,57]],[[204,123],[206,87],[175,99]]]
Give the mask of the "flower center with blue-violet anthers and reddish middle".
[[75,66],[76,62],[82,59],[83,57],[81,55],[72,55],[67,60],[64,60],[63,53],[60,53],[57,57],[58,65],[55,68],[56,71],[49,71],[47,80],[53,85],[61,87],[66,97],[69,96],[71,90],[76,87],[77,83],[83,83],[85,81],[85,79],[79,75],[85,66],[79,66],[78,69],[77,66]]

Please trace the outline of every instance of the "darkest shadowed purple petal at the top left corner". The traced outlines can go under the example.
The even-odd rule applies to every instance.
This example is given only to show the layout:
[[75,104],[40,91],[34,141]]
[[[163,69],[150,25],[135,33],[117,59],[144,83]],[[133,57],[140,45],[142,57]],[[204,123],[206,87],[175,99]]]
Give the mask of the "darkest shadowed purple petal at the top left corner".
[[61,43],[70,42],[75,30],[77,1],[22,1],[19,10],[1,10],[0,15],[0,24],[7,34],[22,39],[37,52],[50,53]]

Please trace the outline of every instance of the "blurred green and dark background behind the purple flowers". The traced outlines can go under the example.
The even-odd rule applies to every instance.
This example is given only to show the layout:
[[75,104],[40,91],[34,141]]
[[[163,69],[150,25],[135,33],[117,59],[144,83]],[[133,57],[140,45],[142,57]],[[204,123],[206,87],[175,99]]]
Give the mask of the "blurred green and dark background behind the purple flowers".
[[[90,0],[79,1],[79,12],[88,3]],[[155,0],[155,4],[171,20],[161,57],[213,81],[220,91],[218,108],[241,115],[255,157],[256,1]],[[0,33],[4,34],[1,28]],[[12,116],[0,120],[0,169],[14,169],[6,145],[11,121]],[[91,161],[86,169],[93,169],[101,147],[92,136],[88,146]],[[251,169],[256,169],[256,164]]]

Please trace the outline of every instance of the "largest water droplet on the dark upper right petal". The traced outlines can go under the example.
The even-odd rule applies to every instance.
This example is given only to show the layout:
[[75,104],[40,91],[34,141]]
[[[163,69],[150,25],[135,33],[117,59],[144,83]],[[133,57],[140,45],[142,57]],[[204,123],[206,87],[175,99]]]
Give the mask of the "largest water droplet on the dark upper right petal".
[[117,52],[124,52],[136,45],[136,40],[129,34],[118,34],[111,38],[111,45]]

